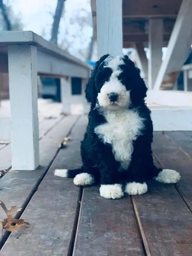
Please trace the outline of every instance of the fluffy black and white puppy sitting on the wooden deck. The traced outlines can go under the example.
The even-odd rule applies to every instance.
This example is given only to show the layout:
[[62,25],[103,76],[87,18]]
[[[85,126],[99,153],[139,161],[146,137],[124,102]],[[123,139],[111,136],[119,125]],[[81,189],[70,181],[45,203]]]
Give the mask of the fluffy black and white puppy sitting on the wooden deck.
[[128,56],[101,57],[85,90],[91,109],[81,142],[83,166],[56,170],[55,175],[74,178],[77,186],[100,183],[100,195],[108,199],[144,194],[150,179],[179,181],[179,172],[153,163],[153,123],[144,102],[146,91],[139,69]]

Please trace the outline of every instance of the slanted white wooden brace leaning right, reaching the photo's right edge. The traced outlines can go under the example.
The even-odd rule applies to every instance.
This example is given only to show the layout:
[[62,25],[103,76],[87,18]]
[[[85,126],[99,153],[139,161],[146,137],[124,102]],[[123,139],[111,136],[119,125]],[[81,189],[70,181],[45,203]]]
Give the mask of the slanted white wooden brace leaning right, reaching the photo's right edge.
[[169,40],[164,58],[155,81],[154,89],[162,83],[174,84],[181,70],[192,42],[192,0],[183,0]]

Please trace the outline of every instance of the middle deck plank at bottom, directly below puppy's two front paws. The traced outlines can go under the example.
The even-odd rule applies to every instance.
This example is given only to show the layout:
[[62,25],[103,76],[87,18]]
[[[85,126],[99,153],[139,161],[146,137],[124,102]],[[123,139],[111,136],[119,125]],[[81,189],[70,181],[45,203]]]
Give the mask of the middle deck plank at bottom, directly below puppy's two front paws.
[[130,197],[104,199],[85,187],[73,256],[144,255]]

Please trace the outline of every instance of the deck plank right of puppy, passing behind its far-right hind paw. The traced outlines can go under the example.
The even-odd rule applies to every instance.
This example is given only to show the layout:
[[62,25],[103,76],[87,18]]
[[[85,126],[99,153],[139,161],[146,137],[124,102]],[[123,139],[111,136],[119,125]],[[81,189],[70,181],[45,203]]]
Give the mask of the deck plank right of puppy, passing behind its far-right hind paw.
[[163,168],[174,169],[181,173],[181,181],[175,187],[192,211],[191,159],[161,132],[154,133],[153,152]]

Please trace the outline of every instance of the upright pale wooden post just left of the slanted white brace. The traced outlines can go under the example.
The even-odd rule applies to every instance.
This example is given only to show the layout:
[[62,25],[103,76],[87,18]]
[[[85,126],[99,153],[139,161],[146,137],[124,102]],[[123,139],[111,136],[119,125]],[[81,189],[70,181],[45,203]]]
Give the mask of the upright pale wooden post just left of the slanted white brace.
[[155,80],[162,62],[163,20],[162,18],[149,19],[148,31],[148,88],[153,89]]

